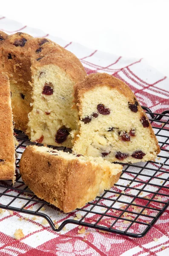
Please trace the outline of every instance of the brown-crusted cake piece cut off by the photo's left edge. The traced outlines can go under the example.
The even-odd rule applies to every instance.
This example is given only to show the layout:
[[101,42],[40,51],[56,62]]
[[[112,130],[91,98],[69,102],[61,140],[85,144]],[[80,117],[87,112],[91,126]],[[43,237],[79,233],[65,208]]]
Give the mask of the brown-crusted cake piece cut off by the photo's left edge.
[[0,75],[0,180],[15,181],[15,143],[9,79]]

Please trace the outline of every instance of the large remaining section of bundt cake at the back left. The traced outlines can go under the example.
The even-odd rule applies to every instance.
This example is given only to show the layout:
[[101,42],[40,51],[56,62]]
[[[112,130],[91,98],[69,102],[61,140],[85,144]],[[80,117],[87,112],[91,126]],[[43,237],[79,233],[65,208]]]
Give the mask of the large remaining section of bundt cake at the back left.
[[[71,147],[69,132],[77,124],[73,85],[86,76],[81,62],[49,39],[21,32],[9,35],[0,49],[0,73],[10,79],[15,128],[32,141]],[[58,112],[66,108],[62,120]]]

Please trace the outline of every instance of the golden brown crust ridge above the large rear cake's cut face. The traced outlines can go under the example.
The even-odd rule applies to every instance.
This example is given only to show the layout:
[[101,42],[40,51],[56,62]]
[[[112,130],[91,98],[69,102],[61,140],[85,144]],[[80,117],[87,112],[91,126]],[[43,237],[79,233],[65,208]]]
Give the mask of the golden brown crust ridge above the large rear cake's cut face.
[[32,61],[32,69],[40,68],[49,64],[57,65],[63,69],[75,82],[82,81],[86,77],[86,72],[73,61],[65,58],[63,54],[51,53],[40,60]]

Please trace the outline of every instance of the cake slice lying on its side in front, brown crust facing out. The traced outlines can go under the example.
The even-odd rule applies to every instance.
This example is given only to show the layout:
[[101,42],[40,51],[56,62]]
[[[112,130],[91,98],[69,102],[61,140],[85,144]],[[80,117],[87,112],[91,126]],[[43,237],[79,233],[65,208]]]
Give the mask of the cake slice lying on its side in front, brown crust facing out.
[[23,181],[39,198],[71,212],[110,189],[122,166],[102,157],[83,157],[52,148],[28,146],[20,160]]

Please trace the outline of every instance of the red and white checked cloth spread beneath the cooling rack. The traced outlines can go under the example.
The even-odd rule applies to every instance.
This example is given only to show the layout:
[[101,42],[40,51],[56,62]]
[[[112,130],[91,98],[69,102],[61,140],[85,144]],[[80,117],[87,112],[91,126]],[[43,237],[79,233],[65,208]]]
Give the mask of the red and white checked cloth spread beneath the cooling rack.
[[[141,105],[154,112],[169,109],[169,79],[146,64],[143,59],[123,58],[86,48],[74,42],[45,34],[39,29],[23,26],[0,15],[0,30],[8,34],[26,32],[35,37],[47,37],[73,52],[88,74],[109,73],[126,82]],[[76,225],[68,224],[61,232],[54,232],[43,218],[17,212],[0,211],[0,256],[161,256],[169,255],[169,210],[161,216],[151,231],[141,239],[112,233],[100,233],[85,228],[79,234]],[[63,216],[57,216],[59,222]],[[21,228],[25,235],[14,239],[14,232]],[[154,240],[154,238],[157,238]]]

